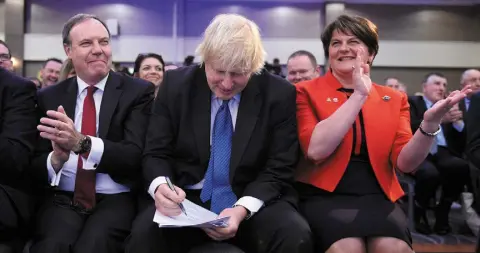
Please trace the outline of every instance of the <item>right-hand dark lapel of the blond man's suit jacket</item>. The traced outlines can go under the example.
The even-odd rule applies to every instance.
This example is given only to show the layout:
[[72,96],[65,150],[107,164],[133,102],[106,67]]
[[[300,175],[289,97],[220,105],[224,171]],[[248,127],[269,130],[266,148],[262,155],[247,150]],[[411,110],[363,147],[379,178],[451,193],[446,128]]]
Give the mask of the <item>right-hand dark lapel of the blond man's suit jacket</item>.
[[265,74],[261,76],[252,76],[249,83],[242,92],[240,104],[238,107],[237,121],[235,124],[235,132],[232,137],[232,155],[230,158],[230,181],[233,181],[235,170],[245,152],[250,137],[252,135],[255,124],[257,123],[258,113],[262,108],[262,100],[258,85],[263,80]]

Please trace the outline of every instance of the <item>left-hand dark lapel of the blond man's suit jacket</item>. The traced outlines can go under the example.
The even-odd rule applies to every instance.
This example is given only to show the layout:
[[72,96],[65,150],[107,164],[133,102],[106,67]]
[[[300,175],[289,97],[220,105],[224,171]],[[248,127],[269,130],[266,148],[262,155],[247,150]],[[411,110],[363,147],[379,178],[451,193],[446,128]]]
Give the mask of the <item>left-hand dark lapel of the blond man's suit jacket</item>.
[[210,157],[210,108],[212,95],[205,76],[205,69],[202,67],[196,70],[196,72],[192,92],[192,127],[200,161],[203,164],[204,162],[208,163]]

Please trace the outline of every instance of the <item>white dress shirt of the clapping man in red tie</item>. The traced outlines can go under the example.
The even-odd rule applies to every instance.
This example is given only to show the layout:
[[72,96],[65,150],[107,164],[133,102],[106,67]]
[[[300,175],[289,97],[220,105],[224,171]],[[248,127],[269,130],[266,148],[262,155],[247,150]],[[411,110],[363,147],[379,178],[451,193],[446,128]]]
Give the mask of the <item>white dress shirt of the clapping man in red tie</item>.
[[[108,75],[95,85],[97,90],[93,93],[93,100],[95,101],[96,111],[96,131],[98,136],[98,123],[100,115],[100,105],[102,104],[103,92],[105,91],[105,84],[107,83]],[[75,129],[80,132],[82,129],[82,116],[83,116],[83,101],[87,96],[88,84],[77,76],[78,94],[77,103],[75,106],[75,118],[73,120]],[[102,139],[95,136],[89,136],[92,140],[92,148],[87,159],[82,157],[83,167],[85,170],[95,170],[102,160],[104,144]],[[55,173],[53,169],[51,157],[52,152],[47,158],[48,178],[52,186],[57,186],[58,189],[63,191],[73,192],[75,190],[75,176],[77,174],[78,155],[70,152],[68,161],[63,165],[58,173]],[[128,192],[130,189],[124,185],[118,184],[105,173],[96,174],[96,192],[103,194],[116,194],[121,192]]]

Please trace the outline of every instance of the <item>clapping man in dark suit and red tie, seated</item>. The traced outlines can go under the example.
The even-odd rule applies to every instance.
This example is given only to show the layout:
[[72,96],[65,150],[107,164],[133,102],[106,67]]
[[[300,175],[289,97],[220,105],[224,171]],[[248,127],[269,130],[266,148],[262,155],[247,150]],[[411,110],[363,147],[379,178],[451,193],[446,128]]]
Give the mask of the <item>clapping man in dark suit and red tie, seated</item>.
[[53,187],[30,252],[120,253],[135,216],[154,87],[110,71],[110,32],[97,17],[72,17],[62,36],[77,77],[38,94],[42,139],[32,173]]

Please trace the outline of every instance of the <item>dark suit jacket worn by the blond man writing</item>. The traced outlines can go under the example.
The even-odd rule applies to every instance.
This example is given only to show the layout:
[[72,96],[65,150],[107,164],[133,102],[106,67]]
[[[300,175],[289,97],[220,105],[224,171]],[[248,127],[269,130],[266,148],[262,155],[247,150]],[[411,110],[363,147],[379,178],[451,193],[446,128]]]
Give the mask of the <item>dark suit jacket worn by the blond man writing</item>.
[[[179,187],[199,183],[210,158],[212,92],[198,65],[168,71],[150,120],[143,171],[147,186],[169,176]],[[263,71],[241,93],[232,137],[230,183],[240,198],[265,202],[287,194],[298,159],[295,87]],[[288,198],[290,200],[290,198]]]

